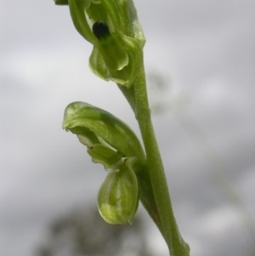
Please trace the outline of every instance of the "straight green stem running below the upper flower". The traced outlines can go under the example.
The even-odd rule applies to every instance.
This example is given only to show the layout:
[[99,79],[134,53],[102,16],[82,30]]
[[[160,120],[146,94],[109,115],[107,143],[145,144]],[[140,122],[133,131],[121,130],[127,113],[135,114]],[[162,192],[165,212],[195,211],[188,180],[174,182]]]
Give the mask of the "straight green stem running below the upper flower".
[[167,242],[169,253],[173,256],[190,255],[190,247],[178,232],[178,225],[173,215],[172,203],[167,186],[167,179],[161,161],[154,128],[150,117],[144,67],[133,84],[135,95],[135,115],[139,122],[140,132],[144,141],[148,169],[153,196],[161,222],[161,233]]

